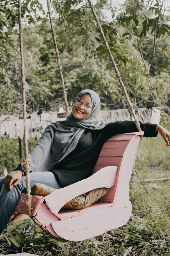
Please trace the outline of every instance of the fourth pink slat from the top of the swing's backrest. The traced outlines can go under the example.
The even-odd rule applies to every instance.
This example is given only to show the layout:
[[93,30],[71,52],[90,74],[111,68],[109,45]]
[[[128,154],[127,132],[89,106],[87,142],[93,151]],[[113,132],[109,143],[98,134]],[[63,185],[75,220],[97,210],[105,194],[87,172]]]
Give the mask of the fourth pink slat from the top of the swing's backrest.
[[96,165],[121,166],[123,157],[99,157]]

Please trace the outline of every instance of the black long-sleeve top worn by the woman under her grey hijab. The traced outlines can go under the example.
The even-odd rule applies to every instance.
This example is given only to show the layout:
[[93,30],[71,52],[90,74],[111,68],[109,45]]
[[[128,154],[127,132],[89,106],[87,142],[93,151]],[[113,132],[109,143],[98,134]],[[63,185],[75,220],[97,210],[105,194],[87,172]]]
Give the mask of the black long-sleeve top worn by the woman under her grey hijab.
[[[145,137],[156,137],[156,124],[139,122]],[[118,121],[109,123],[101,130],[86,129],[81,135],[76,148],[61,162],[56,163],[50,172],[53,172],[61,187],[88,178],[92,175],[94,166],[106,140],[116,134],[137,132],[134,121]],[[22,170],[21,164],[15,170]],[[14,171],[15,171],[14,170]]]

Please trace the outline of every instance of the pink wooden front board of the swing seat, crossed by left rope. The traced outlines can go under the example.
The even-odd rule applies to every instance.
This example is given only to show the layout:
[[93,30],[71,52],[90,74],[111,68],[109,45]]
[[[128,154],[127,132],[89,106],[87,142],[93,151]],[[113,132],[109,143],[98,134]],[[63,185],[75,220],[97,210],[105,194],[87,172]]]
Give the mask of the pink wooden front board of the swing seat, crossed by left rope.
[[[35,216],[38,213],[43,201],[44,201],[43,196],[35,196],[35,195],[32,196],[32,199],[31,199],[31,206],[33,207],[33,210],[31,212],[32,216]],[[21,194],[21,197],[15,208],[15,212],[27,214],[26,194],[23,194],[23,193]]]

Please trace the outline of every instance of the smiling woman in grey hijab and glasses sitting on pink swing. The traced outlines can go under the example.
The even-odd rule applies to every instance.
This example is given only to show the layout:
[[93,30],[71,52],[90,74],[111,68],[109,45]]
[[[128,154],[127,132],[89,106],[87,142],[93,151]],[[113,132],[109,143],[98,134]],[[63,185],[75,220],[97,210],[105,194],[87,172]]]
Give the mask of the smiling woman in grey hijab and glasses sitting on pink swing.
[[[65,121],[46,127],[31,150],[30,186],[36,182],[59,189],[92,175],[103,143],[115,134],[135,132],[134,121],[115,123],[94,120],[100,111],[100,97],[92,90],[81,91],[73,101],[72,113]],[[92,120],[93,119],[93,120]],[[169,145],[170,133],[161,125],[143,124],[147,137],[158,131]],[[6,227],[21,193],[26,192],[21,164],[0,178],[0,234]]]

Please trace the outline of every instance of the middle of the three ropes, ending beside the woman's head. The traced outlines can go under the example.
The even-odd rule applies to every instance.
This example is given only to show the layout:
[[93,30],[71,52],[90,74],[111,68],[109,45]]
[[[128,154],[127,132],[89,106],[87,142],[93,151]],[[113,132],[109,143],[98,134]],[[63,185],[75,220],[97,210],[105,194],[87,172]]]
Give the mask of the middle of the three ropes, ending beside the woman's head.
[[66,116],[67,116],[69,114],[67,94],[66,94],[65,86],[64,86],[63,73],[62,73],[62,68],[60,65],[60,56],[59,56],[59,52],[58,52],[57,41],[56,41],[56,37],[55,37],[56,34],[54,31],[54,26],[53,26],[52,17],[51,17],[49,0],[47,0],[47,7],[48,7],[48,12],[49,12],[49,18],[50,18],[50,24],[51,24],[51,30],[52,30],[52,38],[53,38],[54,49],[55,49],[55,53],[56,53],[56,57],[57,57],[57,64],[58,64],[58,69],[59,69],[60,78],[61,78],[62,91],[63,91],[64,103],[65,103],[65,107],[66,107]]

